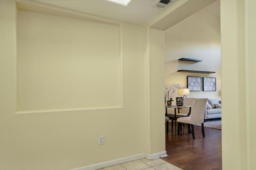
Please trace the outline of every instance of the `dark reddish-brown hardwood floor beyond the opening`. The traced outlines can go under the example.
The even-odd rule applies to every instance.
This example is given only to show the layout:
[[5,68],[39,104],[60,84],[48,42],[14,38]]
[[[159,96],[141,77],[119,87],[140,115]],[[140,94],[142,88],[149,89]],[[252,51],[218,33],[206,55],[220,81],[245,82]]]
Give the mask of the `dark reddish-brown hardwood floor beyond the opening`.
[[169,123],[166,134],[166,157],[162,158],[184,170],[221,170],[221,130],[194,126],[195,139],[188,134],[188,127],[182,127],[180,135],[174,135]]

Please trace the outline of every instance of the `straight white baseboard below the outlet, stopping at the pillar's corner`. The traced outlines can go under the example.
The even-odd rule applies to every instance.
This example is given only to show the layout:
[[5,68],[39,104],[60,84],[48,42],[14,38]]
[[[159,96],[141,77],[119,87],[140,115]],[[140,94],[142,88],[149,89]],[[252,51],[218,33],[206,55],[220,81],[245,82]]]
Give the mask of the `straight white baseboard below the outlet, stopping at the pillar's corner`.
[[145,158],[145,154],[138,154],[138,155],[134,155],[134,156],[126,157],[126,158],[110,160],[110,161],[101,162],[98,164],[92,164],[92,165],[88,165],[88,166],[84,166],[84,167],[80,167],[80,168],[74,168],[74,169],[70,169],[70,170],[97,170],[100,168],[105,168],[108,166],[122,164],[125,162],[130,162],[130,161],[138,160],[138,159],[142,159],[142,158]]

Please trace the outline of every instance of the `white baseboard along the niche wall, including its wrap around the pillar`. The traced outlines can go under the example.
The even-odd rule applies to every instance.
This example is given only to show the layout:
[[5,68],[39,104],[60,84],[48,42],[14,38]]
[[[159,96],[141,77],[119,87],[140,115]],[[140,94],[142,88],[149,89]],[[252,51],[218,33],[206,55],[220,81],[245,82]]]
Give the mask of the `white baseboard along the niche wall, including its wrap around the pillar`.
[[137,154],[137,155],[129,156],[129,157],[126,157],[126,158],[110,160],[110,161],[101,162],[101,163],[98,163],[98,164],[92,164],[92,165],[88,165],[88,166],[84,166],[84,167],[80,167],[80,168],[75,168],[75,169],[72,169],[72,170],[97,170],[97,169],[100,169],[100,168],[105,168],[105,167],[108,167],[108,166],[122,164],[122,163],[125,163],[125,162],[130,162],[130,161],[138,160],[138,159],[142,159],[142,158],[156,159],[156,158],[165,157],[165,156],[167,156],[166,151],[155,153],[155,154]]

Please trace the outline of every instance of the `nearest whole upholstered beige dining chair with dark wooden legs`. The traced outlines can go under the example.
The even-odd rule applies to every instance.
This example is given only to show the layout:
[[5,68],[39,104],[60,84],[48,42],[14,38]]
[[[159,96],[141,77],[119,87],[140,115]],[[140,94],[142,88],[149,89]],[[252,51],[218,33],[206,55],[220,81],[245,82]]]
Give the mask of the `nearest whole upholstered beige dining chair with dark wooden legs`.
[[[204,111],[206,106],[207,98],[195,98],[192,102],[191,113],[187,117],[179,117],[178,122],[178,135],[180,135],[180,126],[181,123],[186,123],[192,127],[192,136],[195,139],[194,125],[201,123],[202,124],[202,135],[204,135]],[[190,129],[190,128],[189,128]]]

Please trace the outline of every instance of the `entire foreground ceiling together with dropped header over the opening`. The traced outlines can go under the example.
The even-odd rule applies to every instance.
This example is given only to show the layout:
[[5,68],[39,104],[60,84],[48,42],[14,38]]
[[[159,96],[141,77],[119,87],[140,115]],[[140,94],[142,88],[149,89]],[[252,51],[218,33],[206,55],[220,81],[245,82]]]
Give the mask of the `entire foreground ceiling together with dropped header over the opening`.
[[[176,0],[165,10],[152,7],[157,0],[18,0],[18,2],[38,2],[47,6],[75,10],[89,16],[147,25],[160,30],[168,29],[203,8],[207,8],[209,12],[220,18],[220,0]],[[22,9],[22,5],[19,7]]]

